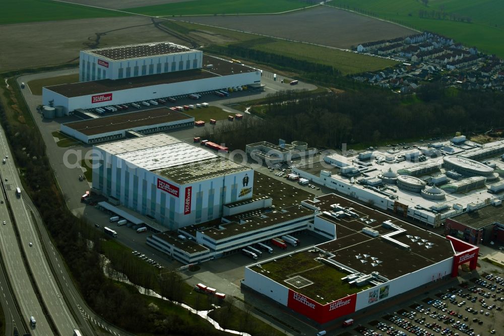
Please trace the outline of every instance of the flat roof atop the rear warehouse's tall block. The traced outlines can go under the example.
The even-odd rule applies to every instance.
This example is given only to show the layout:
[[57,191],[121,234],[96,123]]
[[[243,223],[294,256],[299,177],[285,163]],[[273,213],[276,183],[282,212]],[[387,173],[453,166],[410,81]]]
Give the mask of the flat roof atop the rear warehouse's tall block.
[[158,55],[162,56],[187,51],[195,50],[171,42],[142,43],[85,50],[87,53],[95,54],[111,61],[130,60]]

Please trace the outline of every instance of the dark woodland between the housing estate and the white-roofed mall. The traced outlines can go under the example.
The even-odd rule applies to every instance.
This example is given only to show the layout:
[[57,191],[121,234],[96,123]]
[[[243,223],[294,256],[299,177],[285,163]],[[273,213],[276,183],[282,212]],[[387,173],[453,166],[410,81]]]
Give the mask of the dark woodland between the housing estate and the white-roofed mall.
[[418,140],[501,128],[504,97],[495,92],[460,91],[440,83],[426,84],[416,95],[402,96],[373,88],[335,94],[278,92],[252,111],[248,118],[215,134],[214,142],[230,149],[247,143],[306,141],[310,146],[339,148],[379,145],[387,141]]

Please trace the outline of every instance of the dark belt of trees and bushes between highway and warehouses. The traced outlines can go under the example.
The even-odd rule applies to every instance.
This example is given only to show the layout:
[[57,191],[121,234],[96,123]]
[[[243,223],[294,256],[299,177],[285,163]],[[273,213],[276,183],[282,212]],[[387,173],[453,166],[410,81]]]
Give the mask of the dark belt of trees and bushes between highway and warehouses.
[[[13,84],[11,82],[11,90]],[[9,95],[10,92],[4,91],[4,94]],[[190,318],[180,316],[174,309],[153,311],[145,296],[107,278],[101,268],[101,255],[104,253],[103,243],[110,238],[94,229],[86,219],[74,216],[67,208],[36,127],[9,120],[2,104],[0,123],[5,129],[16,165],[22,172],[25,191],[37,207],[84,300],[98,315],[133,333],[223,334],[200,317],[196,317],[200,323],[191,323]],[[140,260],[133,259],[131,253],[124,251],[108,254],[107,257],[111,260],[111,267],[124,272],[136,284],[158,291],[168,299],[186,302],[187,295],[190,295],[187,285],[175,272],[165,271],[160,275],[154,268],[146,272],[145,267],[138,267]],[[209,304],[206,302],[202,308]]]

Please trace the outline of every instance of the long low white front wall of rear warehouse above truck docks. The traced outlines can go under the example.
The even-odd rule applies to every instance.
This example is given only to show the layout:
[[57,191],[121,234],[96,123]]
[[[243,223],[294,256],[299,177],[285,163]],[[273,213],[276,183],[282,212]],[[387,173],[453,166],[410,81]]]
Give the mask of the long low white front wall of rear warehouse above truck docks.
[[[243,86],[261,81],[261,72],[253,71],[247,73],[232,74],[227,76],[216,76],[211,78],[198,79],[186,82],[157,84],[144,87],[137,87],[124,90],[112,90],[107,92],[97,92],[88,95],[66,97],[57,92],[51,91],[50,86],[42,88],[42,101],[44,105],[49,105],[50,101],[54,106],[61,105],[65,109],[65,114],[77,109],[89,109],[117,104],[128,104],[143,100],[158,99],[177,95],[186,95],[195,92],[205,92],[220,90],[227,87]],[[93,97],[106,95],[106,100],[93,102]]]

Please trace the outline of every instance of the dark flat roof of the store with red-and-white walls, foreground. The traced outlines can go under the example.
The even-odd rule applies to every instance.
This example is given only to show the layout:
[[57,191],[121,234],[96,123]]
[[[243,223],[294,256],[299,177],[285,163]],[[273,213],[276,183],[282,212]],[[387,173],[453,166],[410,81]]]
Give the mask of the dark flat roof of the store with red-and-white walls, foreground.
[[[341,278],[349,273],[342,272],[336,263],[363,274],[379,272],[391,280],[454,255],[446,238],[335,194],[316,197],[306,203],[319,207],[321,211],[330,211],[331,205],[339,204],[358,217],[328,220],[336,226],[336,240],[288,257],[261,262],[261,267],[253,266],[253,269],[319,303],[325,304],[369,288],[350,286],[342,281]],[[384,227],[384,221],[393,223],[394,227]],[[375,230],[379,236],[365,234],[363,228]],[[397,234],[387,238],[386,235],[394,232]],[[294,275],[306,278],[313,285],[297,288],[285,282]]]

